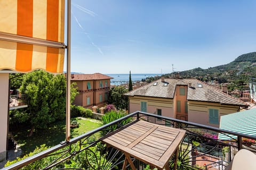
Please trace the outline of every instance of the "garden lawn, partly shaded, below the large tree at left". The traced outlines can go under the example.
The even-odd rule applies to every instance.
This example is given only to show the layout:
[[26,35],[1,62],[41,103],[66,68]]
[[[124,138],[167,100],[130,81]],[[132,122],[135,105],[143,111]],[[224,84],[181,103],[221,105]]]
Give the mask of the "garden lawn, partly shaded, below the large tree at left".
[[[74,119],[72,119],[74,120]],[[71,129],[71,138],[77,137],[85,132],[91,131],[101,126],[100,121],[89,118],[76,118],[79,128]],[[18,128],[12,131],[14,140],[17,141],[23,154],[34,151],[36,147],[45,144],[48,147],[58,145],[66,139],[66,120],[52,123],[46,130],[36,130],[33,135],[28,137],[27,127]]]

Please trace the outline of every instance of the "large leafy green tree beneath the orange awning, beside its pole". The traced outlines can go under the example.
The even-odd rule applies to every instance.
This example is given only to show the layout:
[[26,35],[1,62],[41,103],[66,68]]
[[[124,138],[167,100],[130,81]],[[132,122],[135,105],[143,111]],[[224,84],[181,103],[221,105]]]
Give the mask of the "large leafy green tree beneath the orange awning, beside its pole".
[[[27,113],[32,131],[47,128],[48,124],[66,117],[66,79],[63,74],[53,75],[42,70],[27,73],[23,75],[20,90],[28,98]],[[71,99],[76,94],[76,89],[71,88]]]

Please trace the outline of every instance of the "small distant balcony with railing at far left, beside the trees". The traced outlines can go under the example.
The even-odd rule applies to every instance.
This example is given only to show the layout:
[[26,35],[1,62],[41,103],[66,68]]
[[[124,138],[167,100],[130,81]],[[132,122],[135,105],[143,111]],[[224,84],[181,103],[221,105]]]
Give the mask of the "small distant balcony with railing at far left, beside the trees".
[[10,95],[10,110],[28,107],[27,95]]

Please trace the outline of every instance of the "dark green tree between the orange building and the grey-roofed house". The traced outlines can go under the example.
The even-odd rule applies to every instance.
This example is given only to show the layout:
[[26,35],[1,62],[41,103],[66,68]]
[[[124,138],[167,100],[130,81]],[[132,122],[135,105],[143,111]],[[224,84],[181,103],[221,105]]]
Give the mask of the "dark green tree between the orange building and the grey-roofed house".
[[113,104],[118,109],[128,109],[128,97],[124,94],[128,92],[123,86],[113,87],[109,91],[109,104]]

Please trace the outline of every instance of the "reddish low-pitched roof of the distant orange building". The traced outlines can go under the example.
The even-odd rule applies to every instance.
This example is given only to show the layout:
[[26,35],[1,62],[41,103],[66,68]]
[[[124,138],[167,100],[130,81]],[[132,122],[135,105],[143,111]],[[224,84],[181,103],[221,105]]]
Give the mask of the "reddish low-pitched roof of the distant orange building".
[[114,78],[101,73],[71,74],[71,80],[105,80],[105,79],[114,79]]

